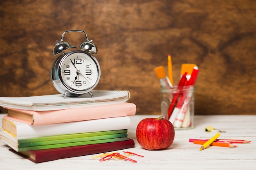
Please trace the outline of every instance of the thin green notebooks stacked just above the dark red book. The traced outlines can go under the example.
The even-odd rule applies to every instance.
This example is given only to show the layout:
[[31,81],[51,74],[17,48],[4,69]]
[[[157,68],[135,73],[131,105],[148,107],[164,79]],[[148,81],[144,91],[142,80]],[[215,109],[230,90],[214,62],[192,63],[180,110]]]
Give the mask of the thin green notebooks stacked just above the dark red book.
[[101,144],[112,141],[128,140],[127,129],[110,130],[102,132],[87,132],[68,135],[56,135],[47,137],[36,137],[29,139],[16,139],[8,132],[0,131],[0,138],[11,148],[19,151],[39,150],[48,148],[62,148],[68,146],[80,146],[88,144]]

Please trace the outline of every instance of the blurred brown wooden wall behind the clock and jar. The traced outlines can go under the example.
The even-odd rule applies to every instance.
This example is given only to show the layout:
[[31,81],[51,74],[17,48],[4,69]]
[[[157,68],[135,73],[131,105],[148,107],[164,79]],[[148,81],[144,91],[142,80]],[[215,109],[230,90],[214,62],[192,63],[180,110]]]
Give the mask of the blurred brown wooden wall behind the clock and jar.
[[256,114],[255,0],[1,0],[0,96],[58,93],[52,49],[70,29],[98,47],[96,89],[130,91],[137,114],[160,114],[154,68],[169,53],[175,83],[182,63],[200,68],[195,114]]

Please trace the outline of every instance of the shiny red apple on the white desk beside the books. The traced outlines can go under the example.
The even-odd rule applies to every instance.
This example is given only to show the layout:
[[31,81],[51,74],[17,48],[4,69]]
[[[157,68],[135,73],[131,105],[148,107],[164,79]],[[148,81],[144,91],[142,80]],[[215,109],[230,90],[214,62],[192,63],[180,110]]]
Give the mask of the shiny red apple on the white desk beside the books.
[[143,119],[136,129],[138,143],[147,150],[168,148],[173,144],[174,136],[173,124],[162,116]]

